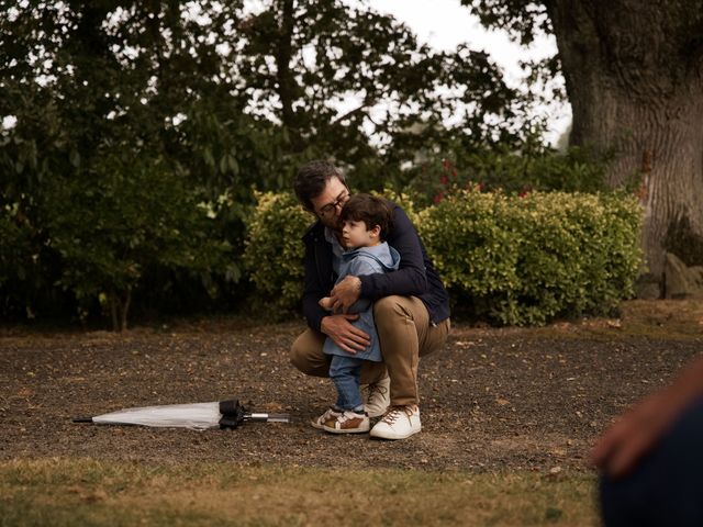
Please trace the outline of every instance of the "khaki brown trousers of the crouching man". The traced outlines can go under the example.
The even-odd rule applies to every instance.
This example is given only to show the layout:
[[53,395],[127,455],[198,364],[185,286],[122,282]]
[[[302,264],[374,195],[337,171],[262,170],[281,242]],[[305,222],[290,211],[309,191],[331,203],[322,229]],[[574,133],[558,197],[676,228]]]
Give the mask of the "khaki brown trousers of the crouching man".
[[[415,296],[384,296],[373,304],[373,319],[381,345],[383,362],[365,361],[361,383],[391,378],[391,405],[419,404],[417,363],[420,357],[444,346],[449,333],[449,319],[436,326],[429,324],[427,309]],[[322,351],[326,336],[308,328],[290,351],[292,365],[303,373],[330,377],[331,357]]]

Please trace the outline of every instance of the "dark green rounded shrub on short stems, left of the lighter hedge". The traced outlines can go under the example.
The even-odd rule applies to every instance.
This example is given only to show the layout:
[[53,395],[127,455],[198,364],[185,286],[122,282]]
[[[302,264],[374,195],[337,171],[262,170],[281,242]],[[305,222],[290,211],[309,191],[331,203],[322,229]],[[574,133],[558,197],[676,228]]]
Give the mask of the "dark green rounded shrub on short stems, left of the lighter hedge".
[[144,158],[110,161],[103,172],[47,182],[44,215],[47,245],[60,257],[57,284],[85,314],[100,301],[119,330],[147,272],[180,270],[205,285],[226,269],[232,248],[213,235],[181,175]]

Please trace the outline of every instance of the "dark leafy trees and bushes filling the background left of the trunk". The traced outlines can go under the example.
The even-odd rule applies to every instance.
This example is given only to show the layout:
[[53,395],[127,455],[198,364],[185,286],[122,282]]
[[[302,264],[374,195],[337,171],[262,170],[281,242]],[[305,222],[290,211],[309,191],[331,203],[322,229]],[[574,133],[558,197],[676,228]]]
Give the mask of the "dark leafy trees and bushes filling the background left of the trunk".
[[420,150],[535,136],[528,106],[368,4],[0,1],[0,314],[232,305],[255,191],[313,157],[402,188]]

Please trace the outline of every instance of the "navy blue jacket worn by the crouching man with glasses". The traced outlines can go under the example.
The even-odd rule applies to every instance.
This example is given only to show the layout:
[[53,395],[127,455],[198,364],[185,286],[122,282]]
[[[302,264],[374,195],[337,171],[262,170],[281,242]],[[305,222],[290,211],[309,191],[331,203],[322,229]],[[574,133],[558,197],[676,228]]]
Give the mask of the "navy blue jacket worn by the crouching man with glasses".
[[[449,317],[449,295],[405,212],[395,203],[389,202],[389,205],[393,211],[393,225],[386,240],[400,253],[400,267],[397,271],[359,277],[361,296],[372,301],[391,294],[417,296],[427,307],[431,324],[437,324]],[[332,244],[325,239],[324,231],[324,225],[317,221],[303,236],[303,314],[308,325],[316,330],[320,330],[322,318],[330,314],[317,301],[330,295],[337,278],[332,269]]]

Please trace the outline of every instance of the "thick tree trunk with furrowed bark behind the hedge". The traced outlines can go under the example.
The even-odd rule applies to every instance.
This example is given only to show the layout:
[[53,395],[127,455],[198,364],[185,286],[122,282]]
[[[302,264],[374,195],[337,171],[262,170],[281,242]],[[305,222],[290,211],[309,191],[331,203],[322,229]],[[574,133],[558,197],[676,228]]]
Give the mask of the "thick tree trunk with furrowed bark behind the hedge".
[[614,158],[609,183],[641,177],[643,248],[703,264],[703,1],[547,2],[573,109],[571,144]]

